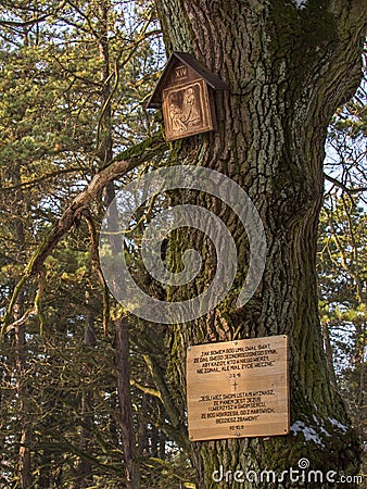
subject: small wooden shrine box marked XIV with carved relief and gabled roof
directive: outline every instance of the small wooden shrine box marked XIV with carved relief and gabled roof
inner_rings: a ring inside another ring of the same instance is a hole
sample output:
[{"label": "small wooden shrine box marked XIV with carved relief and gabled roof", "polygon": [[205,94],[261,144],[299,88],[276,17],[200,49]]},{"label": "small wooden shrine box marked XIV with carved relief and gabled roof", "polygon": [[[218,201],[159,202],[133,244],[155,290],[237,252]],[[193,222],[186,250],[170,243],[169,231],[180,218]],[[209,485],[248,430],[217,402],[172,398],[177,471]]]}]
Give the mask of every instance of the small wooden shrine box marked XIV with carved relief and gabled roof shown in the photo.
[{"label": "small wooden shrine box marked XIV with carved relief and gabled roof", "polygon": [[214,130],[214,92],[228,89],[191,54],[173,52],[147,108],[162,106],[166,140],[173,141]]}]

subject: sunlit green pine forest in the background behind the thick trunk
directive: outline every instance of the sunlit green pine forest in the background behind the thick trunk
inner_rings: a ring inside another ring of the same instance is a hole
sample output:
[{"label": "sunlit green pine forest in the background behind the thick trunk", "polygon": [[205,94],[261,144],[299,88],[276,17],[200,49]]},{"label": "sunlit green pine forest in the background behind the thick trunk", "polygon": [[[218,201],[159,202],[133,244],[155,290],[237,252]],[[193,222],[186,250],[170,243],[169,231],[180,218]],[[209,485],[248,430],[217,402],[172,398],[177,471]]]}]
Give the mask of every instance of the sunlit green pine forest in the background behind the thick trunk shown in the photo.
[{"label": "sunlit green pine forest in the background behind the thick trunk", "polygon": [[[0,5],[1,315],[46,231],[109,163],[101,158],[106,139],[116,155],[157,128],[143,108],[164,62],[154,8],[143,1],[102,4],[109,10],[106,25],[97,0],[7,0]],[[105,33],[107,59],[101,57]],[[341,174],[342,187],[328,189],[319,235],[322,324],[331,336],[339,388],[362,436],[367,213],[355,190],[366,187],[359,151],[366,137],[364,96],[362,88],[330,128],[328,170],[332,178]],[[104,210],[102,198],[90,209],[97,226]],[[141,283],[147,279],[140,263],[136,275]],[[113,330],[122,311],[110,298],[104,333],[103,289],[85,221],[27,283],[23,312],[34,306],[42,284],[37,314],[22,326],[24,343],[20,347],[12,330],[0,344],[0,487],[21,487],[22,430],[30,434],[33,488],[126,487]],[[87,322],[93,346],[86,342]],[[159,388],[166,381],[165,336],[164,327],[130,319],[127,380],[141,486],[193,488],[187,434],[174,401]]]}]

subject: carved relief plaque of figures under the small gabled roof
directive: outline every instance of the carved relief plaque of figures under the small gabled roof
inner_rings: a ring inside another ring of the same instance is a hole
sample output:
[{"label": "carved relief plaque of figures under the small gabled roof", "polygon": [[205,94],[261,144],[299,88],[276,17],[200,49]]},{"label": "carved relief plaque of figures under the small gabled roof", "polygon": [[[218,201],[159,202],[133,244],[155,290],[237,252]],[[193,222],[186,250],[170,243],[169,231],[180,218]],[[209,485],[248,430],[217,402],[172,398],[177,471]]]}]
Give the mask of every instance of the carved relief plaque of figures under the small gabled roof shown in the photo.
[{"label": "carved relief plaque of figures under the small gabled roof", "polygon": [[167,141],[213,130],[214,115],[203,79],[163,90],[163,117]]}]

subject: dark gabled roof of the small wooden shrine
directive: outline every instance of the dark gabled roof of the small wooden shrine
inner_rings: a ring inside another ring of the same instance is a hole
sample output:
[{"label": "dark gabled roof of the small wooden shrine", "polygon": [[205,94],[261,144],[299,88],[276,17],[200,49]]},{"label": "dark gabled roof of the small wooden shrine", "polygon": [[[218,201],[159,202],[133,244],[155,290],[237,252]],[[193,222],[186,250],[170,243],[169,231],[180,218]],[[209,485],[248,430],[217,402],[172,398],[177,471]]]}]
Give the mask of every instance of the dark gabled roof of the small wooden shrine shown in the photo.
[{"label": "dark gabled roof of the small wooden shrine", "polygon": [[191,54],[188,52],[178,52],[174,51],[169,60],[163,70],[163,73],[154,88],[153,93],[148,100],[147,109],[159,109],[162,105],[162,99],[161,99],[161,91],[162,86],[166,79],[167,74],[169,73],[173,64],[175,61],[180,61],[185,65],[189,66],[197,75],[199,75],[201,78],[203,78],[206,84],[212,87],[214,90],[229,90],[228,85],[223,82],[217,75],[210,72],[204,65],[202,65],[198,60],[195,60]]}]

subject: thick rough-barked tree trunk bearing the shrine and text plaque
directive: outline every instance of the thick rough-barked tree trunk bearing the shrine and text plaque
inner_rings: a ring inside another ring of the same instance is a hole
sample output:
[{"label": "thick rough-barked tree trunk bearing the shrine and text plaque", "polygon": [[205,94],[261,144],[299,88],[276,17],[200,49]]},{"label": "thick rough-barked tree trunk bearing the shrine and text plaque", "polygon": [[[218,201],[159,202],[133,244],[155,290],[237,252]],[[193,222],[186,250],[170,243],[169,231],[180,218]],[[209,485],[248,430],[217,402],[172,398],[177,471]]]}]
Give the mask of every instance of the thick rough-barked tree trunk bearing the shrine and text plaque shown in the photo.
[{"label": "thick rough-barked tree trunk bearing the shrine and text plaque", "polygon": [[[291,1],[157,0],[157,7],[168,51],[191,52],[230,86],[229,93],[216,95],[217,131],[175,143],[175,164],[206,166],[237,181],[261,215],[268,250],[262,284],[242,309],[235,302],[244,277],[214,312],[173,328],[168,369],[178,402],[185,402],[189,344],[235,335],[289,335],[290,340],[291,434],[192,443],[198,487],[273,487],[217,484],[212,474],[220,465],[232,473],[280,473],[298,468],[301,457],[309,460],[311,469],[354,474],[358,443],[322,351],[316,239],[327,126],[360,78],[363,2],[308,0],[298,9]],[[186,203],[204,200],[197,196]],[[238,223],[227,227],[236,238],[239,269],[245,271],[245,234]],[[202,237],[186,236],[203,250]],[[182,246],[172,243],[176,264]],[[210,276],[213,261],[205,259],[205,266]],[[193,284],[192,291],[198,287]],[[179,300],[180,293],[173,289],[170,297]]]}]

